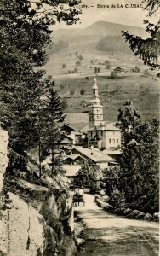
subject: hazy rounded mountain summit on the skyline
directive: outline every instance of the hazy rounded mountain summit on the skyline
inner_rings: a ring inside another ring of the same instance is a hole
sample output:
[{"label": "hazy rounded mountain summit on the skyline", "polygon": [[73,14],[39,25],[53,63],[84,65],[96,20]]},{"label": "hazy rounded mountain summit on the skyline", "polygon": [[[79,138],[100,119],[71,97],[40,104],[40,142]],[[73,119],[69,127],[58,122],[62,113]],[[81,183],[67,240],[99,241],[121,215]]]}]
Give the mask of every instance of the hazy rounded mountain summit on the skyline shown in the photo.
[{"label": "hazy rounded mountain summit on the skyline", "polygon": [[145,30],[141,27],[98,21],[83,29],[60,29],[54,32],[54,41],[57,42],[65,38],[72,48],[96,49],[101,38],[120,37],[123,30],[142,37],[145,36]]}]

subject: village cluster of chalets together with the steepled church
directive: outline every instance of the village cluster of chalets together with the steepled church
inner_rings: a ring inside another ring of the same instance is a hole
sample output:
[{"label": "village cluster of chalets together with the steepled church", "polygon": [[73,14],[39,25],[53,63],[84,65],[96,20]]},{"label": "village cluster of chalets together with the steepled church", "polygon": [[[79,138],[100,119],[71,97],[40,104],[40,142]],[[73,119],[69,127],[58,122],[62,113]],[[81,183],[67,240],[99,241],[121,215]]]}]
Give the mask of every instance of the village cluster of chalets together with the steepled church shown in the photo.
[{"label": "village cluster of chalets together with the steepled church", "polygon": [[[67,120],[75,113],[67,113]],[[83,122],[87,114],[88,124]],[[68,132],[59,145],[63,169],[71,180],[76,178],[81,166],[88,163],[90,166],[99,166],[106,169],[117,166],[117,159],[121,152],[121,131],[113,122],[103,119],[103,106],[100,102],[97,81],[94,78],[92,96],[89,104],[89,113],[76,113],[77,120],[82,125],[77,129],[77,124],[67,126]]]}]

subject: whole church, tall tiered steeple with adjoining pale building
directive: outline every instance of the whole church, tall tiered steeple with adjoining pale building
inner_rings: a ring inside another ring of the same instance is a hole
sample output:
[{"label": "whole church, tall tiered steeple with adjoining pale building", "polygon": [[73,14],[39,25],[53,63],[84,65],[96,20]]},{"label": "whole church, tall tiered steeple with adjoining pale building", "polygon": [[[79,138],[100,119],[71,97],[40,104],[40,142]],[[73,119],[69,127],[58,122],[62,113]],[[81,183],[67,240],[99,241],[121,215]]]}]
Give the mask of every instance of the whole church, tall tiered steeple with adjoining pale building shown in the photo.
[{"label": "whole church, tall tiered steeple with adjoining pale building", "polygon": [[103,120],[103,106],[100,102],[95,78],[89,105],[88,141],[89,147],[94,146],[100,149],[121,148],[121,130],[115,126],[115,123]]}]

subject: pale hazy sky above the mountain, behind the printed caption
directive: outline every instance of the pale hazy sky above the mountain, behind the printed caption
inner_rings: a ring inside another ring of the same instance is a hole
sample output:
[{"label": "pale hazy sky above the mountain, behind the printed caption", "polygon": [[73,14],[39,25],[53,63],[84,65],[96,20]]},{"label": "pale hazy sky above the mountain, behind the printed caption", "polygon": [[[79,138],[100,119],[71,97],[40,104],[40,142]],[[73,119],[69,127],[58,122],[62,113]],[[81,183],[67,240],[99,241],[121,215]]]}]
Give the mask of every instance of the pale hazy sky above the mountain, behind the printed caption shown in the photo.
[{"label": "pale hazy sky above the mountain, behind the printed caption", "polygon": [[[80,15],[80,22],[77,25],[66,26],[63,23],[57,24],[55,28],[79,27],[83,28],[93,24],[98,20],[110,21],[115,23],[126,24],[130,26],[144,26],[143,19],[146,19],[146,12],[142,8],[127,8],[125,4],[140,4],[141,0],[82,0],[82,4],[88,5],[89,8],[83,8],[83,14]],[[97,8],[97,4],[108,4],[109,8]],[[115,4],[116,8],[111,8]],[[123,4],[123,8],[117,8],[117,4]],[[95,7],[91,7],[95,6]],[[154,20],[157,16],[154,15]]]}]

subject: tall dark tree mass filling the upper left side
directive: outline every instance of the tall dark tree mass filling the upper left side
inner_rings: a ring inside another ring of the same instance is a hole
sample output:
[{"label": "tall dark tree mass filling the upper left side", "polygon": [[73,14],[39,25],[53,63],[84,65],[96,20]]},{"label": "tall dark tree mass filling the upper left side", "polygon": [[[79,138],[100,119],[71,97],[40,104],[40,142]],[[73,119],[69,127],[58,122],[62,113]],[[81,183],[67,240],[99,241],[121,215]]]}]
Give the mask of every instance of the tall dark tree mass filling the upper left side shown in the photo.
[{"label": "tall dark tree mass filling the upper left side", "polygon": [[77,22],[79,2],[1,0],[0,121],[9,131],[9,146],[21,158],[39,140],[36,113],[49,88],[41,67],[52,43],[51,26],[56,21]]}]

